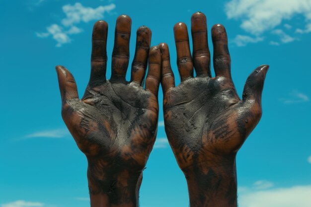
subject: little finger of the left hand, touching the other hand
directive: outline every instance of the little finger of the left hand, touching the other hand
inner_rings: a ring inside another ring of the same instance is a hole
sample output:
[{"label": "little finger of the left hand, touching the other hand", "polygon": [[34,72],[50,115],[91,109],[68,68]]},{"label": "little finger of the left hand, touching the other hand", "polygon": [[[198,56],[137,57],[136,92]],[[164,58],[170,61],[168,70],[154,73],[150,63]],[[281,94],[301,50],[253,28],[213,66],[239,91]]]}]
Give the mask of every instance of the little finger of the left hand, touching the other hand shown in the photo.
[{"label": "little finger of the left hand, touching the other hand", "polygon": [[150,49],[149,69],[146,78],[146,90],[152,92],[156,97],[161,79],[161,52],[157,46]]}]

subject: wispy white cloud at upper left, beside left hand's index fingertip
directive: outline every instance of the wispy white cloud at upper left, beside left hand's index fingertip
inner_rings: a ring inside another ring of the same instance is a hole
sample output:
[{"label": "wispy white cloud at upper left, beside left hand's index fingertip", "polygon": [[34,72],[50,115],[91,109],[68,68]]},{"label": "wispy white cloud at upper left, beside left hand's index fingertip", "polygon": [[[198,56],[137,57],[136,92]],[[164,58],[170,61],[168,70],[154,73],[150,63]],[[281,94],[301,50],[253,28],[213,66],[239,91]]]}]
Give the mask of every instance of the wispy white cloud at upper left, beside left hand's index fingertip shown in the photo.
[{"label": "wispy white cloud at upper left, beside left hand's index fingertip", "polygon": [[66,17],[61,20],[61,24],[52,24],[46,28],[46,32],[36,32],[36,35],[39,38],[51,36],[57,42],[56,47],[61,47],[63,44],[71,43],[71,35],[83,31],[83,29],[76,26],[77,24],[102,19],[104,13],[109,13],[115,7],[116,5],[114,3],[98,6],[96,8],[84,7],[78,2],[74,5],[64,5],[63,12]]}]

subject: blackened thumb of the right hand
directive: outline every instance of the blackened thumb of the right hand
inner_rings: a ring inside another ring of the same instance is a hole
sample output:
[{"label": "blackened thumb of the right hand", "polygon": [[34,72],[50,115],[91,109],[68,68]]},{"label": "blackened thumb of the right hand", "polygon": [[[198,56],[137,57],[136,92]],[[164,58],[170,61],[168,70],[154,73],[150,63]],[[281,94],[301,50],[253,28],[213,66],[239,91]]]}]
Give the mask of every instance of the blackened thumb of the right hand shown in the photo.
[{"label": "blackened thumb of the right hand", "polygon": [[244,102],[247,100],[255,100],[257,103],[261,104],[263,83],[268,69],[268,65],[259,66],[248,76],[242,96]]}]

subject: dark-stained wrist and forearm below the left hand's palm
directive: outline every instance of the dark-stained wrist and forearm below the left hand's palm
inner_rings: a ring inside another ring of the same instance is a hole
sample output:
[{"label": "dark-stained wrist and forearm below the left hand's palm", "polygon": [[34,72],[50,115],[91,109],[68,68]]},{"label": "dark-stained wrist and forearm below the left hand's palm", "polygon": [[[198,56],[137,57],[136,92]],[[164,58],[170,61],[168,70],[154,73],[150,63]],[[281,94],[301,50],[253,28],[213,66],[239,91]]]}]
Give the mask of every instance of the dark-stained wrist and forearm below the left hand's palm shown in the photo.
[{"label": "dark-stained wrist and forearm below the left hand's palm", "polygon": [[138,207],[142,172],[133,176],[115,174],[98,177],[88,170],[91,207]]}]

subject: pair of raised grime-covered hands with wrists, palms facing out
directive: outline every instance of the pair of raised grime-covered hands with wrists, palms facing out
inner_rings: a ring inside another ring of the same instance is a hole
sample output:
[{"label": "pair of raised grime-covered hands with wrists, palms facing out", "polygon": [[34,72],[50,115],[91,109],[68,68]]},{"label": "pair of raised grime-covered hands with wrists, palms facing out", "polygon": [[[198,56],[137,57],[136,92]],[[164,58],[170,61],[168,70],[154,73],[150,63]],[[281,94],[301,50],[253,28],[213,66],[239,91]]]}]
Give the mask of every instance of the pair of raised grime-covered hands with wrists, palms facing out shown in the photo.
[{"label": "pair of raised grime-covered hands with wrists, palms facing out", "polygon": [[197,12],[191,17],[192,55],[187,26],[181,22],[174,26],[178,86],[168,46],[150,48],[151,30],[146,26],[137,30],[127,81],[131,18],[121,15],[108,80],[107,31],[105,21],[95,23],[90,79],[81,99],[73,75],[56,67],[62,117],[88,161],[91,207],[139,206],[143,170],[156,140],[160,83],[165,132],[185,174],[190,207],[237,207],[235,156],[261,118],[269,66],[259,66],[248,76],[240,99],[231,76],[226,29],[221,24],[212,27],[216,74],[212,77],[206,17]]}]

